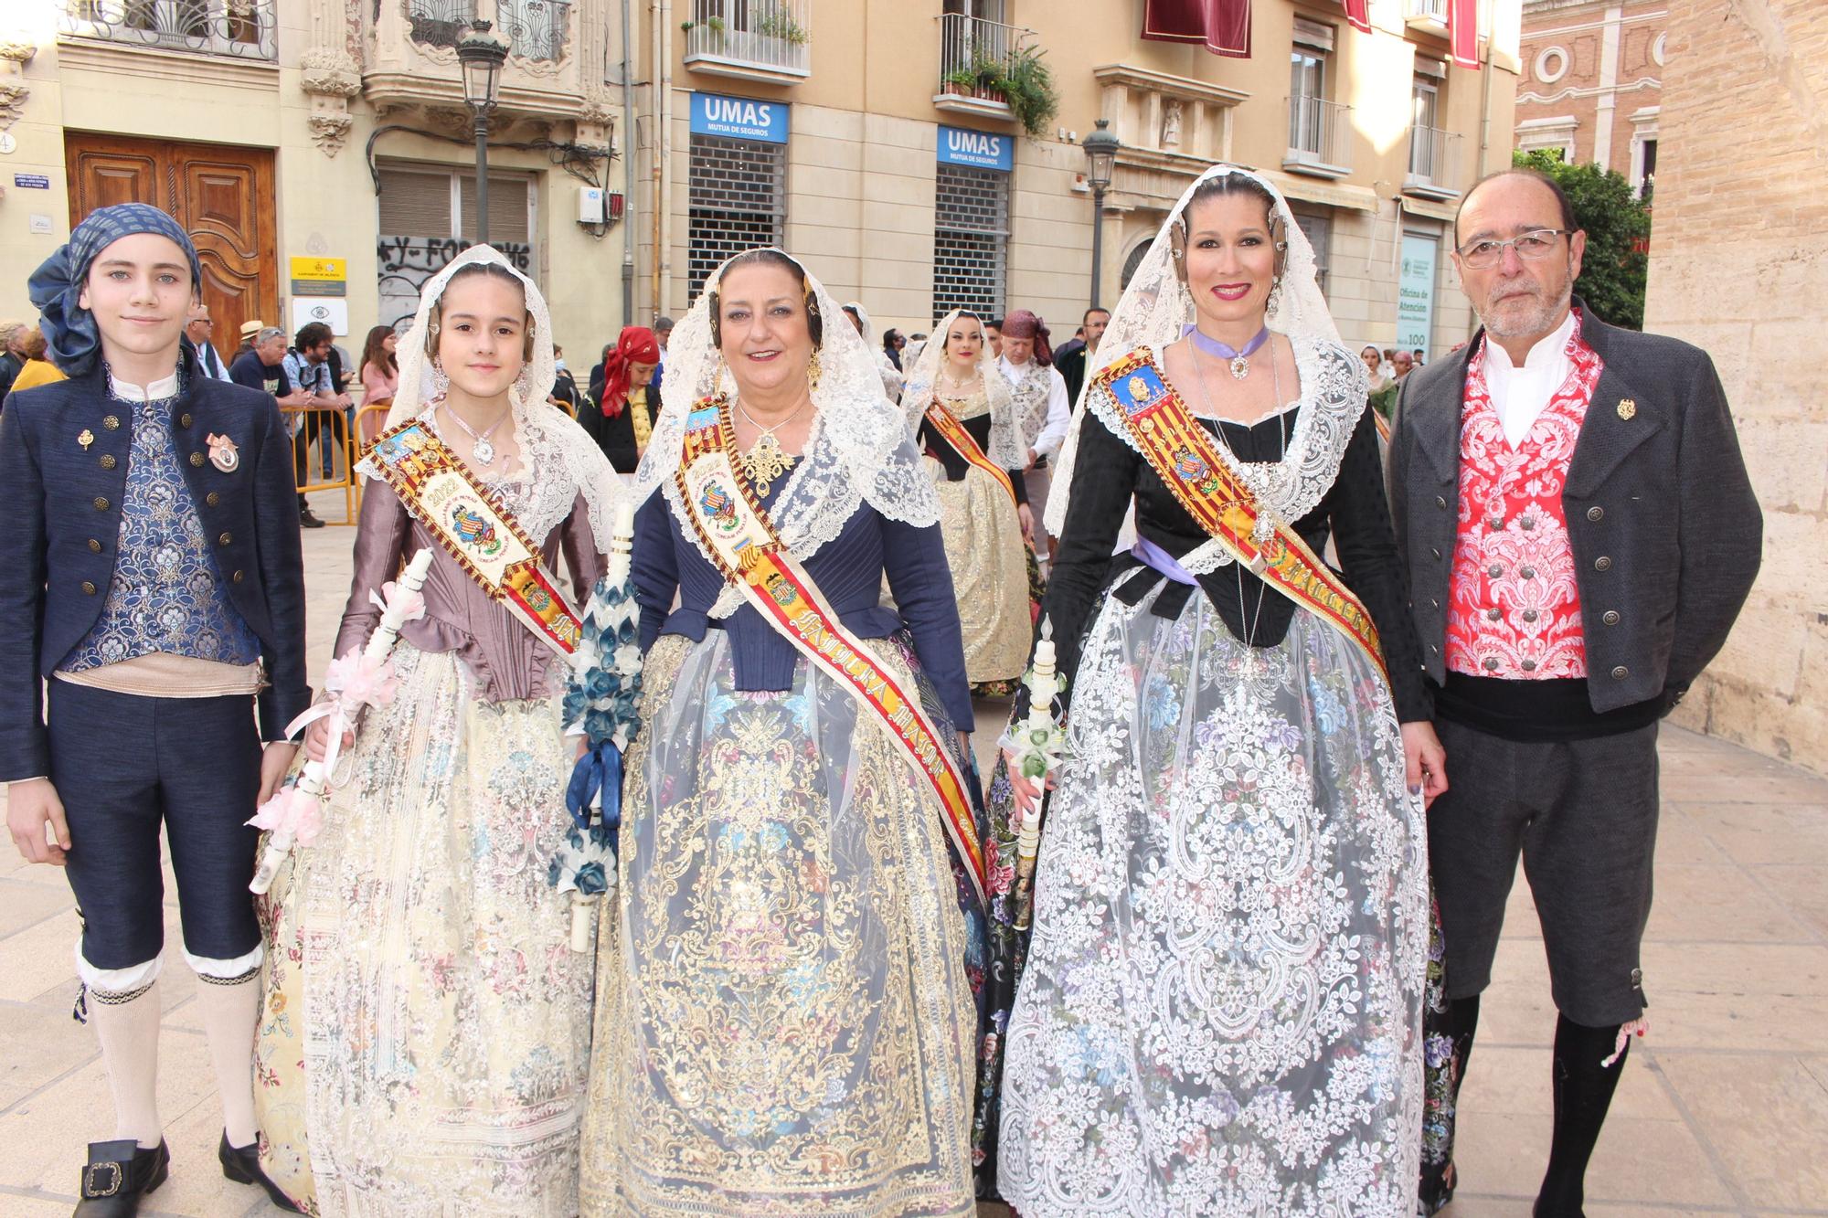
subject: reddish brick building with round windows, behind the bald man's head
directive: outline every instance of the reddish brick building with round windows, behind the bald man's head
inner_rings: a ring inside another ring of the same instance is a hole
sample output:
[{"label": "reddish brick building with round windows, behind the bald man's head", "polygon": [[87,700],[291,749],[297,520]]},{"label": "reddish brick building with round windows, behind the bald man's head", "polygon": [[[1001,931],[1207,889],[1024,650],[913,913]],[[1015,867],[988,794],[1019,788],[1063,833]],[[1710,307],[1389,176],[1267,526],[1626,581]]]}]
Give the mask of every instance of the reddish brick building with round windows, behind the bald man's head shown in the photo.
[{"label": "reddish brick building with round windows, behind the bald man's head", "polygon": [[1525,0],[1517,148],[1656,177],[1669,0]]}]

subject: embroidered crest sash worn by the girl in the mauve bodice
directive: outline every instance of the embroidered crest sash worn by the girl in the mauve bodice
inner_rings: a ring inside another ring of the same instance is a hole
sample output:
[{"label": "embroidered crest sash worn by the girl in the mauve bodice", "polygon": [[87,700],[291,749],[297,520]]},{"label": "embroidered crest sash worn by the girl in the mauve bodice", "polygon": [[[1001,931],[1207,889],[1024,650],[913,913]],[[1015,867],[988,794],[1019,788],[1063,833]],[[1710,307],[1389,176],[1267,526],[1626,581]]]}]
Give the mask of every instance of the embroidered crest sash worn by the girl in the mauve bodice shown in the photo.
[{"label": "embroidered crest sash worn by the girl in the mauve bodice", "polygon": [[559,655],[581,636],[578,611],[539,561],[539,549],[420,419],[384,432],[369,454],[413,519],[439,540],[490,600]]}]

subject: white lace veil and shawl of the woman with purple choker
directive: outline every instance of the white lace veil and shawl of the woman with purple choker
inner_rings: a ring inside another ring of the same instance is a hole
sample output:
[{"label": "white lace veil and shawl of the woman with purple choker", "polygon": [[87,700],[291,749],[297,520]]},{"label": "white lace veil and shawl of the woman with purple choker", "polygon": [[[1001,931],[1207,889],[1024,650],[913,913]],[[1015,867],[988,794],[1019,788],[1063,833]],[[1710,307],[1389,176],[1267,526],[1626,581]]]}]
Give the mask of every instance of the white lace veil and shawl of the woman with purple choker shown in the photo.
[{"label": "white lace veil and shawl of the woman with purple choker", "polygon": [[[1358,415],[1364,411],[1366,395],[1371,388],[1364,364],[1340,342],[1340,331],[1333,324],[1333,315],[1327,311],[1325,296],[1320,294],[1320,283],[1314,276],[1314,247],[1309,245],[1302,227],[1294,221],[1289,201],[1281,198],[1281,192],[1269,179],[1250,170],[1236,165],[1214,165],[1181,194],[1174,210],[1168,212],[1168,219],[1155,232],[1155,241],[1148,247],[1148,254],[1142,256],[1142,263],[1137,267],[1135,276],[1132,276],[1130,287],[1124,289],[1122,298],[1117,302],[1117,311],[1111,315],[1111,324],[1104,329],[1099,351],[1086,368],[1086,386],[1080,390],[1080,401],[1077,402],[1080,417],[1068,430],[1066,444],[1060,448],[1060,461],[1053,475],[1053,492],[1047,496],[1046,525],[1047,532],[1055,536],[1060,536],[1066,529],[1066,505],[1073,488],[1073,466],[1079,459],[1079,430],[1086,426],[1086,408],[1091,406],[1091,413],[1100,415],[1106,426],[1113,421],[1108,413],[1111,406],[1106,402],[1100,410],[1093,401],[1099,397],[1093,391],[1097,375],[1137,347],[1148,347],[1159,355],[1168,344],[1177,342],[1186,326],[1196,320],[1194,298],[1174,269],[1172,232],[1181,223],[1194,192],[1212,177],[1225,174],[1243,174],[1263,187],[1276,201],[1276,214],[1281,218],[1289,249],[1283,256],[1278,302],[1265,316],[1265,326],[1280,335],[1287,335],[1294,347],[1296,368],[1302,373],[1302,415],[1296,422],[1296,439],[1289,448],[1289,455],[1280,463],[1287,466],[1285,472],[1267,474],[1259,465],[1234,465],[1232,468],[1239,472],[1247,486],[1258,492],[1287,521],[1300,519],[1314,510],[1314,505],[1327,494],[1338,474],[1340,455],[1345,452],[1345,443],[1351,439],[1353,428],[1358,426]],[[1327,419],[1320,419],[1320,415],[1327,415]],[[1113,426],[1111,430],[1117,435],[1124,435],[1121,428]],[[1124,441],[1128,443],[1128,437]],[[1334,444],[1336,452],[1333,452]],[[1331,455],[1327,455],[1329,452]],[[1216,545],[1203,545],[1188,558],[1206,554],[1214,549]],[[1206,563],[1205,571],[1223,565],[1210,554],[1197,558],[1197,561]],[[1186,558],[1181,563],[1194,574],[1205,572],[1201,567],[1188,565]]]}]

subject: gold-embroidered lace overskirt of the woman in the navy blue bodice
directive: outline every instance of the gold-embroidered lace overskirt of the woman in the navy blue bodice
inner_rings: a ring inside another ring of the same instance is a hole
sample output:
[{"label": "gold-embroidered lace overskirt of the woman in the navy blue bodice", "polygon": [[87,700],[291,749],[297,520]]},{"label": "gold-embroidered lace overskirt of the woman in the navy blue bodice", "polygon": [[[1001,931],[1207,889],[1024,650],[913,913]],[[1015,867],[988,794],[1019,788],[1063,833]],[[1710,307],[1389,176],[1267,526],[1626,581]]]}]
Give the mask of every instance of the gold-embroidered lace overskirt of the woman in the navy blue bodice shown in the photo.
[{"label": "gold-embroidered lace overskirt of the woman in the navy blue bodice", "polygon": [[930,792],[804,662],[737,691],[724,631],[662,636],[643,682],[583,1213],[971,1214],[976,1006]]}]

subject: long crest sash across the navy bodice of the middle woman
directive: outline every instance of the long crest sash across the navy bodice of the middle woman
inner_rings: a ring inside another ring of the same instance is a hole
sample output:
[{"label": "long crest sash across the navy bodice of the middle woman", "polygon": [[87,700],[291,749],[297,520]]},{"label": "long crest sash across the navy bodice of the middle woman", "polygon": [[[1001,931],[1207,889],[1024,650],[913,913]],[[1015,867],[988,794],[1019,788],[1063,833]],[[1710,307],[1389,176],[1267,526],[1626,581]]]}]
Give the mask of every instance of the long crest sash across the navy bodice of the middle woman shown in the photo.
[{"label": "long crest sash across the navy bodice of the middle woman", "polygon": [[686,417],[686,448],[675,483],[693,530],[724,578],[812,664],[834,677],[874,715],[914,772],[940,796],[941,821],[983,902],[983,843],[971,796],[919,697],[852,635],[806,569],[781,545],[773,521],[735,461],[737,439],[724,399],[700,401]]}]

